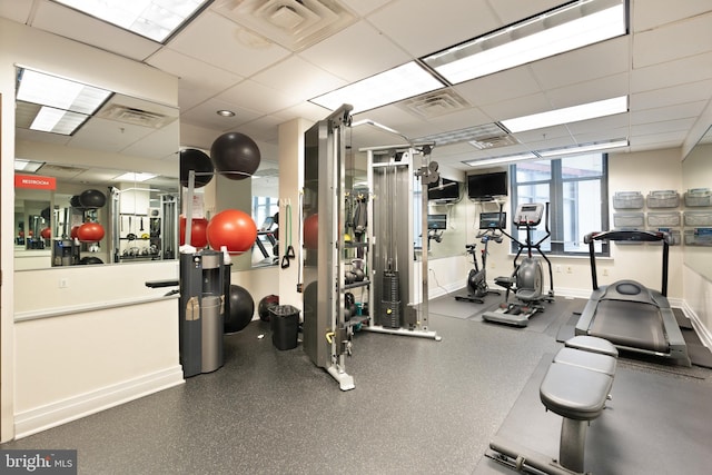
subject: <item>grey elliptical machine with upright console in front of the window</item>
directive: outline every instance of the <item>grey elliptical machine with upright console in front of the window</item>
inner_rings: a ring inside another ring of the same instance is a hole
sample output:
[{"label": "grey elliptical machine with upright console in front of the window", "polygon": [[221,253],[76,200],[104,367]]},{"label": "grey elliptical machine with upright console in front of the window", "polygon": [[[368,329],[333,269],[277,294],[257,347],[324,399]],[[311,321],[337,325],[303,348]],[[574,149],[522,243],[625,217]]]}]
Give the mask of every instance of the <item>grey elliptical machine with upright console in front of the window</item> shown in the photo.
[{"label": "grey elliptical machine with upright console in front of the window", "polygon": [[[545,235],[536,243],[532,240],[532,231],[544,220]],[[516,229],[526,230],[524,243],[510,236],[504,229],[500,229],[506,237],[518,245],[514,257],[514,271],[507,277],[495,278],[495,284],[506,289],[505,299],[500,308],[485,311],[482,318],[486,321],[525,327],[528,320],[538,311],[544,310],[544,301],[554,301],[554,274],[552,263],[542,251],[542,244],[551,237],[548,229],[548,202],[527,202],[518,205],[515,211],[514,226]],[[526,257],[520,261],[522,253],[526,250]],[[548,293],[544,293],[544,268],[542,260],[533,255],[533,250],[546,261],[548,266]],[[514,301],[510,296],[514,296]]]}]

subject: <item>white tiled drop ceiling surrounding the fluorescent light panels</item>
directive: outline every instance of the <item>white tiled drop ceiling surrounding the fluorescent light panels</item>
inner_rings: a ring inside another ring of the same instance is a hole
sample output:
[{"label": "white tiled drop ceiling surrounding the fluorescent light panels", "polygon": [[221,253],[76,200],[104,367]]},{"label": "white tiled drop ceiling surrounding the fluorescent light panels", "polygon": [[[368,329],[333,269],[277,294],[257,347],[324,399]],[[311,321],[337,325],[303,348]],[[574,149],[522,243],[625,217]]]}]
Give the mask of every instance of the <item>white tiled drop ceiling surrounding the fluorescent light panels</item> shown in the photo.
[{"label": "white tiled drop ceiling surrounding the fluorescent light panels", "polygon": [[[179,77],[181,146],[240,131],[276,145],[280,123],[319,120],[315,96],[557,7],[556,0],[215,0],[166,44],[51,0],[0,0],[0,16]],[[627,137],[623,151],[682,146],[712,98],[712,3],[631,0],[630,34],[358,113],[418,139],[629,96],[630,111],[436,146],[441,165]],[[296,23],[308,20],[308,28]],[[236,112],[221,118],[219,109]],[[486,137],[484,139],[487,139]],[[402,142],[369,126],[355,147]],[[486,140],[483,140],[486,142]]]}]

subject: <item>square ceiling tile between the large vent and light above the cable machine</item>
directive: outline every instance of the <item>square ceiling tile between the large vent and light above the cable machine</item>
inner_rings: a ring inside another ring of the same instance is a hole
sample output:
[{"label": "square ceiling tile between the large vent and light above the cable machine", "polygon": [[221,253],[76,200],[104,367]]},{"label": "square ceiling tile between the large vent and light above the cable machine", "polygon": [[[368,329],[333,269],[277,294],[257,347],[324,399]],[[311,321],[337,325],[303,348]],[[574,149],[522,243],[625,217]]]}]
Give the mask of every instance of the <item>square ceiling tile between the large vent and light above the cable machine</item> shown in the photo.
[{"label": "square ceiling tile between the large vent and light above the cable machine", "polygon": [[[377,55],[374,55],[377,51]],[[411,61],[411,57],[360,21],[299,53],[300,57],[348,81],[357,81]]]}]

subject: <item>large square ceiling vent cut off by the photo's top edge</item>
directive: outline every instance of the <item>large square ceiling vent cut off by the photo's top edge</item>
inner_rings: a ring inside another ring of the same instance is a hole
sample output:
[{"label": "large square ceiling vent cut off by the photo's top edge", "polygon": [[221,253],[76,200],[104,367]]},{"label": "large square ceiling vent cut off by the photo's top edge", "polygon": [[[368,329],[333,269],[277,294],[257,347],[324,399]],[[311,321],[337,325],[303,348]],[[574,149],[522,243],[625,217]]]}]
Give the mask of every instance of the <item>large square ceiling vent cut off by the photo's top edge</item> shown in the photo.
[{"label": "large square ceiling vent cut off by the photo's top edge", "polygon": [[224,0],[215,10],[291,51],[316,44],[356,21],[336,0]]}]

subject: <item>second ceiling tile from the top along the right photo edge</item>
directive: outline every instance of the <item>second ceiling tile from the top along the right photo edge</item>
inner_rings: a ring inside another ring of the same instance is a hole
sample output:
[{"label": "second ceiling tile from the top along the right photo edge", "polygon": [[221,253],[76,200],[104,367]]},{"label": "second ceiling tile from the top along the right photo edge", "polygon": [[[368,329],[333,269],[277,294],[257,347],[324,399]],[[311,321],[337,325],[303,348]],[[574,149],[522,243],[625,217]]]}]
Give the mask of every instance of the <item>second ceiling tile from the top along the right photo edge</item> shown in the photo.
[{"label": "second ceiling tile from the top along the right photo edge", "polygon": [[635,34],[633,67],[643,68],[712,49],[712,11]]}]

